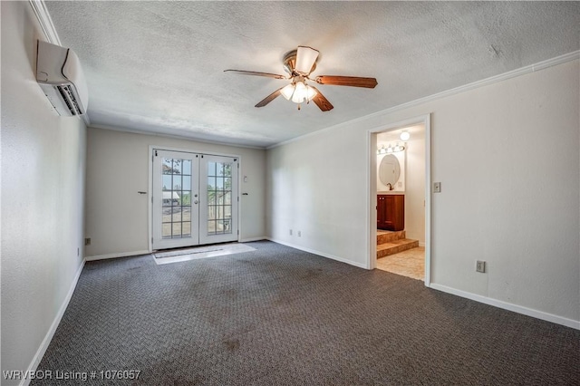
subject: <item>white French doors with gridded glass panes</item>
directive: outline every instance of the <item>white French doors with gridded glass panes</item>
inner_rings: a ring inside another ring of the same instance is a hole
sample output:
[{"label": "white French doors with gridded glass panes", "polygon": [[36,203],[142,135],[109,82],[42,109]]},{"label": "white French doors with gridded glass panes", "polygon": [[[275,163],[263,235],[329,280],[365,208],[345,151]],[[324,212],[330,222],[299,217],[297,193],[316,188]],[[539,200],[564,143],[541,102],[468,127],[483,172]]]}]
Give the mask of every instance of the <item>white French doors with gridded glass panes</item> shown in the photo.
[{"label": "white French doors with gridded glass panes", "polygon": [[153,150],[153,249],[237,241],[237,158]]}]

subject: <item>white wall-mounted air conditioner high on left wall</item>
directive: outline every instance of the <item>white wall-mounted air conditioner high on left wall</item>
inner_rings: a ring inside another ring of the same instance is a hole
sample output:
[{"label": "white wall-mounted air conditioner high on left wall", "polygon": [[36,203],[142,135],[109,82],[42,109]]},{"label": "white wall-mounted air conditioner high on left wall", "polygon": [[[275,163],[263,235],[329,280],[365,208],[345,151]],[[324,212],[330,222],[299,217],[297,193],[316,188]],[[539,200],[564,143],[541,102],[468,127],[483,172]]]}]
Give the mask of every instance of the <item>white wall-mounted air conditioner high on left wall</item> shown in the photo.
[{"label": "white wall-mounted air conditioner high on left wall", "polygon": [[87,111],[87,82],[73,50],[38,41],[36,82],[60,115],[70,117]]}]

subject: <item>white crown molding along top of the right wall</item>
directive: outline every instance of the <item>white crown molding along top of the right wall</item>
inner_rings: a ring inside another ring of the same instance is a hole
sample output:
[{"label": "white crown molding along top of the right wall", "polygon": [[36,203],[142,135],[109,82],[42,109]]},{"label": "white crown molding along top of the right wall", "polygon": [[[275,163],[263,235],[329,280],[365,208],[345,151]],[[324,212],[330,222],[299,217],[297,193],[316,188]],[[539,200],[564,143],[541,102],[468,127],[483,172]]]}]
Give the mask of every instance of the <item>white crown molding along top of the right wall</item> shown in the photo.
[{"label": "white crown molding along top of the right wall", "polygon": [[338,128],[341,128],[344,126],[353,125],[357,122],[362,122],[362,121],[366,121],[366,120],[369,120],[372,118],[391,114],[395,111],[409,109],[411,107],[418,106],[420,104],[427,103],[430,101],[436,101],[436,100],[439,100],[441,98],[446,98],[446,97],[449,97],[451,95],[458,94],[460,92],[468,92],[470,90],[475,90],[475,89],[478,89],[479,87],[488,86],[488,85],[493,84],[493,83],[507,81],[508,79],[516,78],[517,76],[525,75],[525,74],[530,73],[530,72],[544,70],[548,67],[552,67],[552,66],[567,63],[567,62],[572,62],[572,61],[577,60],[577,59],[580,59],[580,51],[574,51],[572,53],[565,53],[563,55],[556,56],[555,58],[547,59],[546,61],[538,62],[535,64],[530,64],[530,65],[527,65],[525,67],[517,68],[516,70],[512,70],[509,72],[500,73],[499,75],[491,76],[489,78],[482,79],[481,81],[464,84],[463,86],[459,86],[459,87],[456,87],[454,89],[449,89],[449,90],[444,91],[444,92],[438,92],[436,94],[432,94],[432,95],[429,95],[429,96],[426,96],[426,97],[423,97],[423,98],[420,98],[420,99],[417,99],[414,101],[408,101],[406,103],[399,104],[399,105],[391,107],[389,109],[385,109],[385,110],[377,111],[377,112],[372,112],[371,114],[364,115],[364,116],[359,117],[359,118],[355,118],[351,121],[344,121],[344,122],[338,123],[336,125],[324,128],[322,130],[316,130],[313,132],[309,132],[308,134],[301,135],[300,137],[295,137],[291,140],[285,140],[285,141],[282,141],[279,143],[275,143],[274,145],[268,146],[266,149],[267,150],[274,149],[274,148],[277,148],[279,146],[284,146],[284,145],[287,145],[289,143],[295,142],[296,140],[304,140],[304,139],[311,137],[313,135],[321,134],[324,131],[335,130],[335,129],[338,129]]}]

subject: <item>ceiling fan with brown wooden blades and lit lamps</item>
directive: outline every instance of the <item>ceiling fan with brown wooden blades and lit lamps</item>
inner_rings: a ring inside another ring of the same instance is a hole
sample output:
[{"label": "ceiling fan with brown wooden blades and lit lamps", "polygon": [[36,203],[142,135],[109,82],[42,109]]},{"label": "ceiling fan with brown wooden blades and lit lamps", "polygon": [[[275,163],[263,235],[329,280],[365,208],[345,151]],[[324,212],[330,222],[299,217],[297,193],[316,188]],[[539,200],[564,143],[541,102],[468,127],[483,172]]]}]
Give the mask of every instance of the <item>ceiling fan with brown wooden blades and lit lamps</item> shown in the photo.
[{"label": "ceiling fan with brown wooden blades and lit lamps", "polygon": [[242,75],[266,76],[268,78],[291,81],[289,84],[280,87],[275,92],[266,96],[262,101],[259,101],[256,104],[256,107],[266,106],[266,104],[274,101],[275,98],[281,94],[286,100],[298,103],[298,110],[300,110],[300,103],[303,103],[304,101],[306,103],[314,101],[320,110],[330,111],[333,110],[331,102],[328,101],[316,87],[308,84],[308,82],[336,86],[365,87],[367,89],[373,89],[378,84],[375,78],[361,78],[356,76],[320,75],[313,79],[310,77],[310,74],[316,69],[318,55],[318,50],[314,50],[314,48],[304,45],[299,45],[298,49],[286,53],[283,59],[283,66],[285,72],[288,72],[287,76],[269,72],[243,70],[225,70],[224,72],[236,72]]}]

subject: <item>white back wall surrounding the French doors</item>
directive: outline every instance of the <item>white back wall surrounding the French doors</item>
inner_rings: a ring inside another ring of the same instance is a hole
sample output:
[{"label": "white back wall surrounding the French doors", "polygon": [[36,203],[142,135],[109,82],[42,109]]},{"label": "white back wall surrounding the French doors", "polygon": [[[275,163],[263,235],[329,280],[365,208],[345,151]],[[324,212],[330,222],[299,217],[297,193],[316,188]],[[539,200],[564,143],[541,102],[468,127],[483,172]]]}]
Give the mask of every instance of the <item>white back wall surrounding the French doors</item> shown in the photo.
[{"label": "white back wall surrounding the French doors", "polygon": [[87,258],[148,251],[150,145],[240,157],[240,236],[266,236],[266,151],[89,128],[87,139]]}]

